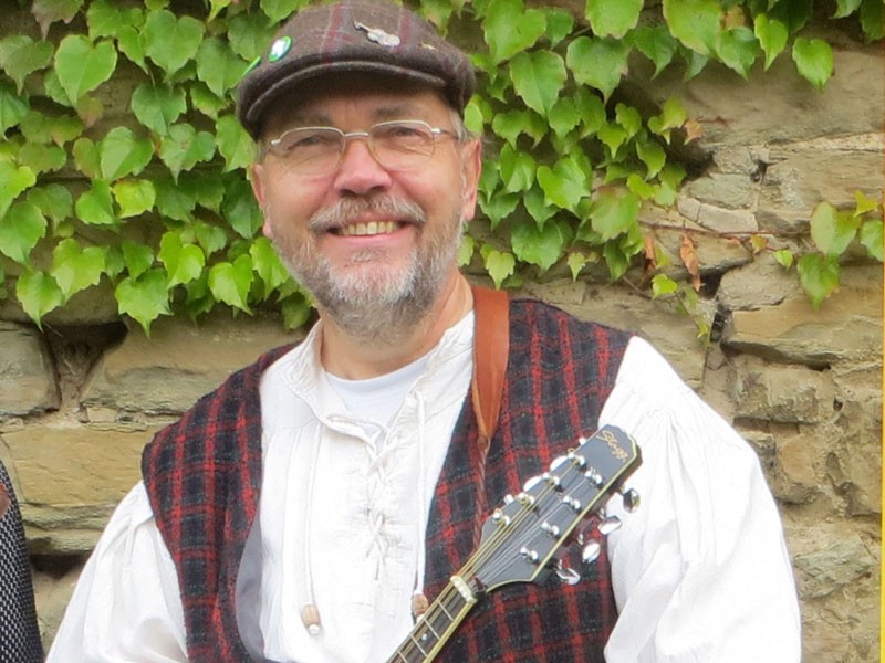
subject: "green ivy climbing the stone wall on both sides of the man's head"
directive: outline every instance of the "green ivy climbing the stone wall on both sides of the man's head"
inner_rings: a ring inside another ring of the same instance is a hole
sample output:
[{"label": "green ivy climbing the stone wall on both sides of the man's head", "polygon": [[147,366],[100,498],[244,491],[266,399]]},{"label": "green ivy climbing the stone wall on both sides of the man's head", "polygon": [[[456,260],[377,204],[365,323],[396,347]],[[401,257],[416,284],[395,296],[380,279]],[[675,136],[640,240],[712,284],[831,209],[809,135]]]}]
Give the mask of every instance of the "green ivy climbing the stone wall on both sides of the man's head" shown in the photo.
[{"label": "green ivy climbing the stone wall on both sides of the man's head", "polygon": [[[41,325],[77,293],[113,288],[118,312],[146,332],[159,316],[198,318],[218,305],[282,311],[303,325],[311,302],[261,236],[244,168],[253,145],[233,94],[277,25],[304,0],[34,0],[7,4],[0,34],[0,298]],[[667,275],[644,204],[670,208],[686,170],[674,140],[698,137],[677,99],[644,117],[615,102],[632,56],[655,75],[697,75],[717,61],[748,77],[791,57],[818,88],[831,46],[803,34],[816,12],[856,20],[883,39],[882,0],[586,0],[580,15],[523,0],[423,0],[419,9],[471,48],[480,90],[468,126],[489,137],[482,223],[460,260],[499,287],[605,265],[617,280],[652,264],[652,296],[685,303],[698,288]],[[822,9],[824,8],[824,9]],[[882,202],[810,211],[810,246],[769,249],[796,269],[814,305],[839,286],[858,242],[882,261]]]}]

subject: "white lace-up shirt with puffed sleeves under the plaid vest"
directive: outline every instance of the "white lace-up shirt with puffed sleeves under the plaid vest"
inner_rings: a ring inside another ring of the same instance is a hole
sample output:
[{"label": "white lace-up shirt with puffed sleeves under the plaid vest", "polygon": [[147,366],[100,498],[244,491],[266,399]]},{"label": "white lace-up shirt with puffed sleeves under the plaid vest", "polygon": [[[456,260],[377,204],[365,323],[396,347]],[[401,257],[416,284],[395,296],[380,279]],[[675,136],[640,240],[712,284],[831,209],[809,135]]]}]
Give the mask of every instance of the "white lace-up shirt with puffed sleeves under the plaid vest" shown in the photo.
[{"label": "white lace-up shirt with puffed sleeves under the plaid vest", "polygon": [[[360,414],[322,370],[316,330],[266,372],[261,545],[248,546],[263,564],[241,573],[253,580],[241,596],[261,596],[264,656],[383,662],[408,633],[419,544],[470,381],[472,327],[468,316],[449,329],[419,361],[425,370],[404,369],[388,398]],[[372,417],[375,409],[383,414]],[[606,423],[643,453],[628,482],[642,506],[625,514],[618,498],[608,505],[624,524],[607,539],[618,620],[606,661],[798,662],[790,559],[752,449],[639,338],[603,409]],[[311,596],[319,636],[300,618]],[[185,652],[175,566],[139,483],[84,568],[48,661],[180,662]]]}]

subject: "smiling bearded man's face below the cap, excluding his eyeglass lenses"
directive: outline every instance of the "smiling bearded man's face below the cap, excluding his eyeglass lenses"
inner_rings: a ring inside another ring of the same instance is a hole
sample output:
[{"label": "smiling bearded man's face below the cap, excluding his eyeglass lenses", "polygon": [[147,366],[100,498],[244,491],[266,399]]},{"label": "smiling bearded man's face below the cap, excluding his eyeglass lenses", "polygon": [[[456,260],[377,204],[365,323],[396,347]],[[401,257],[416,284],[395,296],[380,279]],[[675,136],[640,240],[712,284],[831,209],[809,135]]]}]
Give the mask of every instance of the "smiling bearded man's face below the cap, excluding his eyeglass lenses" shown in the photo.
[{"label": "smiling bearded man's face below the cap, excluding his eyeglass lenses", "polygon": [[[296,127],[364,131],[391,120],[455,129],[451,109],[431,90],[339,75],[300,91],[293,107],[278,107],[263,138]],[[339,324],[361,332],[373,325],[372,313],[381,314],[376,325],[396,323],[392,315],[410,324],[434,304],[457,272],[479,169],[476,140],[442,135],[426,162],[391,170],[356,138],[330,173],[293,172],[270,152],[253,166],[252,187],[264,211],[264,234],[292,274]]]}]

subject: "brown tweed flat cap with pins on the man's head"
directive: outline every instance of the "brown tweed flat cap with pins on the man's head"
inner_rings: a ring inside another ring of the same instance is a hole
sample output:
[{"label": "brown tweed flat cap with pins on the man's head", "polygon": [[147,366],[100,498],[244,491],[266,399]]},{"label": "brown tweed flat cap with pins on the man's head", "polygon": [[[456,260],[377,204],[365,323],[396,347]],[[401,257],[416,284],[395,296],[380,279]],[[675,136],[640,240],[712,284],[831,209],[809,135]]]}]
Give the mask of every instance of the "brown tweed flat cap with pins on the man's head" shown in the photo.
[{"label": "brown tweed flat cap with pins on the man's head", "polygon": [[258,138],[273,104],[296,98],[310,78],[343,72],[438,87],[458,112],[476,85],[468,57],[427,21],[391,1],[344,0],[303,9],[282,25],[240,82],[237,116]]}]

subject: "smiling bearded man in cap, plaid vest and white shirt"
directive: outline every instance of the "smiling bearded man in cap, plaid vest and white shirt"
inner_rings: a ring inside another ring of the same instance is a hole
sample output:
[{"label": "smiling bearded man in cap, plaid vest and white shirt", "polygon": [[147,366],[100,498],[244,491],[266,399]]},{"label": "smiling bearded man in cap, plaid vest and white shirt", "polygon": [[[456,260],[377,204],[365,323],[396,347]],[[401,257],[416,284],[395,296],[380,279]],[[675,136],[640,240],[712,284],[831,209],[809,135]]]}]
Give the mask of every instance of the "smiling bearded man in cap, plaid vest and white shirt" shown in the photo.
[{"label": "smiling bearded man in cap, plaid vest and white shirt", "polygon": [[366,0],[298,13],[247,74],[264,233],[320,322],[148,446],[50,661],[424,660],[392,656],[487,513],[606,423],[642,448],[643,506],[610,505],[623,528],[581,582],[490,592],[439,660],[799,660],[758,460],[647,344],[511,303],[485,439],[483,295],[456,262],[480,175],[472,90],[460,51]]}]

